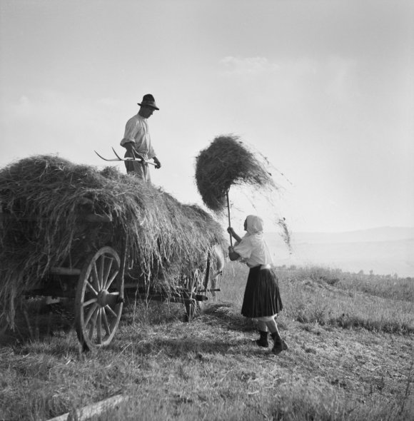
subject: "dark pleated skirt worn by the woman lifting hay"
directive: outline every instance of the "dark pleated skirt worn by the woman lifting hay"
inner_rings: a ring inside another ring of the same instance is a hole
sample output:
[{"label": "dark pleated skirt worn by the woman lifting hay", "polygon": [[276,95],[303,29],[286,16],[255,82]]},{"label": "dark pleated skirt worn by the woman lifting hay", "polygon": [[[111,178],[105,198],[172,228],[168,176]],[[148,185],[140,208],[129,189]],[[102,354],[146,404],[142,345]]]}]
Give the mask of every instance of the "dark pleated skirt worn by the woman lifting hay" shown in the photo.
[{"label": "dark pleated skirt worn by the woman lifting hay", "polygon": [[246,318],[275,315],[283,308],[278,278],[271,269],[251,268],[248,273],[241,314]]}]

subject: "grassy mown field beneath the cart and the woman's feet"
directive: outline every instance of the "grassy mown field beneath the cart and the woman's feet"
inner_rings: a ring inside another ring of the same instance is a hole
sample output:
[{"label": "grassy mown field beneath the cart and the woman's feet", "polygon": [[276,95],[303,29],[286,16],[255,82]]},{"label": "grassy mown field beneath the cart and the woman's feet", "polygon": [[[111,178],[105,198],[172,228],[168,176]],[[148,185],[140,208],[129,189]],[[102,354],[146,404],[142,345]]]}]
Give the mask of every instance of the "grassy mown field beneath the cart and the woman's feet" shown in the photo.
[{"label": "grassy mown field beneath the cart and the woman's feet", "polygon": [[183,305],[130,303],[104,350],[82,353],[69,322],[31,304],[0,345],[0,419],[48,420],[113,395],[99,420],[412,420],[414,280],[280,271],[289,350],[252,344],[247,269],[183,323]]}]

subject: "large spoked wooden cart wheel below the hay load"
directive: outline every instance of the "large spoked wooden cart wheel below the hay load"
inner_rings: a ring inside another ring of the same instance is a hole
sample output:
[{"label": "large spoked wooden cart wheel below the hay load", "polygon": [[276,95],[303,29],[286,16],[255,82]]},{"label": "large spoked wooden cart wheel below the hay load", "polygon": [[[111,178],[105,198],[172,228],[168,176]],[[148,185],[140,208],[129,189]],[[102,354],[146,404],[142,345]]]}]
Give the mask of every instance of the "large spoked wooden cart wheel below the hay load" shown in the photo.
[{"label": "large spoked wooden cart wheel below the hay load", "polygon": [[103,247],[86,261],[76,290],[76,333],[86,349],[111,342],[123,307],[123,280],[118,253]]}]

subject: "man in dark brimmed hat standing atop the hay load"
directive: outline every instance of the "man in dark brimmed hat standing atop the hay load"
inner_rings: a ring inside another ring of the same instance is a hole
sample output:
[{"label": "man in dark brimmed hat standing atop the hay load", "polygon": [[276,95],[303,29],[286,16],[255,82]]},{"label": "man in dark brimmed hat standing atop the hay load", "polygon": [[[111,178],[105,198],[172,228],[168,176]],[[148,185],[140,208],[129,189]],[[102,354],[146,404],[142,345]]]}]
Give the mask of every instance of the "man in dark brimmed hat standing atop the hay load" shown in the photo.
[{"label": "man in dark brimmed hat standing atop the hay load", "polygon": [[125,158],[138,158],[137,161],[124,161],[126,172],[134,173],[143,181],[151,182],[148,164],[145,161],[152,159],[156,168],[161,168],[161,162],[151,145],[147,119],[159,108],[151,93],[144,95],[138,106],[140,106],[138,114],[126,122],[121,146],[126,148]]}]

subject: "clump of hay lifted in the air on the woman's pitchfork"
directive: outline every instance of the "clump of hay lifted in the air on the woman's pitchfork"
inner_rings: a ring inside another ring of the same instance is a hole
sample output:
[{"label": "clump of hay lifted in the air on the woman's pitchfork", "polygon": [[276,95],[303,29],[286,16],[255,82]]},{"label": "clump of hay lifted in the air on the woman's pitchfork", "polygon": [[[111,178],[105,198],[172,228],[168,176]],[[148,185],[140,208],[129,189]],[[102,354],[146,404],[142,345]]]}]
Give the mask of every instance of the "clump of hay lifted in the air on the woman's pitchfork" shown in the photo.
[{"label": "clump of hay lifted in the air on the woman's pitchfork", "polygon": [[277,190],[271,174],[238,136],[218,136],[196,158],[196,183],[203,202],[220,213],[233,185],[250,184]]}]

